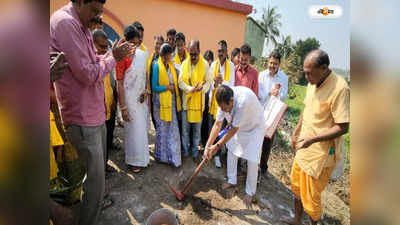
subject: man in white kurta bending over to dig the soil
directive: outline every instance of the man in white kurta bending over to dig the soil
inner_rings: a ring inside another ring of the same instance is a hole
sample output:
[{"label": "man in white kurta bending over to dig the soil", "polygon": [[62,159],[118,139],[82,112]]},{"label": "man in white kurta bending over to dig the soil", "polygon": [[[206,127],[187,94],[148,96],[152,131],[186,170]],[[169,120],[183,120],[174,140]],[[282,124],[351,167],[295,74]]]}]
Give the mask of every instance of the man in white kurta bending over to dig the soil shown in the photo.
[{"label": "man in white kurta bending over to dig the soil", "polygon": [[[244,203],[252,208],[253,196],[257,189],[258,164],[266,131],[263,108],[252,90],[247,87],[221,85],[216,93],[218,112],[208,138],[204,158],[212,159],[221,146],[228,148],[228,182],[222,185],[226,190],[237,184],[238,158],[247,160],[246,196]],[[227,133],[214,144],[221,130],[224,118],[228,121]]]}]

